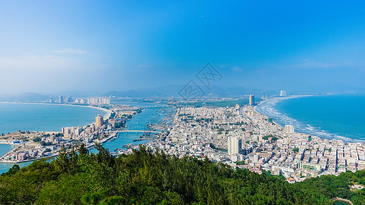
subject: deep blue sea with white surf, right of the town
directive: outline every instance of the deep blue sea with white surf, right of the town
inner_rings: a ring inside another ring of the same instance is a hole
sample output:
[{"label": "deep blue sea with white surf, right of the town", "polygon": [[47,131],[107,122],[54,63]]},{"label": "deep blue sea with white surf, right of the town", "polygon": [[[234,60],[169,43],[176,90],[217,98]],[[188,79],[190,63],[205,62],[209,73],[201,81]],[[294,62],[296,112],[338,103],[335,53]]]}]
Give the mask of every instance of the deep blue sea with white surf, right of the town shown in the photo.
[{"label": "deep blue sea with white surf, right of the town", "polygon": [[345,142],[365,141],[365,95],[289,96],[262,102],[256,111],[297,133]]}]

